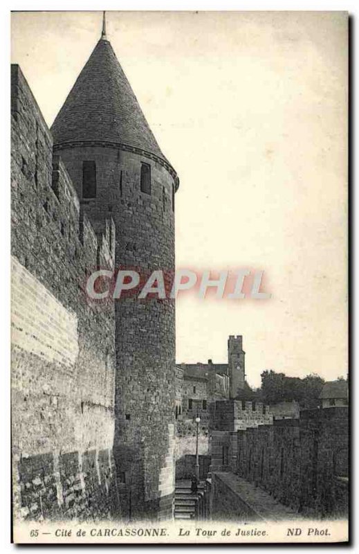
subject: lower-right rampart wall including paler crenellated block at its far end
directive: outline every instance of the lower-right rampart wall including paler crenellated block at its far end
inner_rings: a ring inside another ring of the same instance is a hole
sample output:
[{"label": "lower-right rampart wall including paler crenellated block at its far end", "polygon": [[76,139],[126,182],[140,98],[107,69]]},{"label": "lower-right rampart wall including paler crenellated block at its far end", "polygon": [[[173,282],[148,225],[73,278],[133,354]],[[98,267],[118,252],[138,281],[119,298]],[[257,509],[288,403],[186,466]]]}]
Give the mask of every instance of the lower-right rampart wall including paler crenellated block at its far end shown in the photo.
[{"label": "lower-right rampart wall including paler crenellated block at its far end", "polygon": [[238,474],[297,512],[347,513],[347,408],[273,422],[268,406],[223,400],[210,415],[211,472]]}]

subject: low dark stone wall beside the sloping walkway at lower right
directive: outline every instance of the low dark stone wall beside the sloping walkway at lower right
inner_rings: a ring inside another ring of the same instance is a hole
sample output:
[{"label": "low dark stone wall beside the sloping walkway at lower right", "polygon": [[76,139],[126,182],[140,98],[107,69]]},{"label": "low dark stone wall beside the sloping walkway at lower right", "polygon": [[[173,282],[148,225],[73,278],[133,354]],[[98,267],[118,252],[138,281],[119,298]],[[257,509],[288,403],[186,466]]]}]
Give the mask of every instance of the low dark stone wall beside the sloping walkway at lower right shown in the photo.
[{"label": "low dark stone wall beside the sloping walkway at lower right", "polygon": [[237,432],[237,473],[286,506],[315,516],[348,509],[348,409]]}]

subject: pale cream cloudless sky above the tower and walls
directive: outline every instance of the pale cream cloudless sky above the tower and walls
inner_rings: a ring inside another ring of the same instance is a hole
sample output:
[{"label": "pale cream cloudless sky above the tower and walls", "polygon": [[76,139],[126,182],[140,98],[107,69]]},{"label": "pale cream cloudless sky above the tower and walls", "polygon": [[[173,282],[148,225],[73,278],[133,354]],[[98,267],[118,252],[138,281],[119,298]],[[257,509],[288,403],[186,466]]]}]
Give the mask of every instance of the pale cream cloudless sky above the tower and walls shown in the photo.
[{"label": "pale cream cloudless sky above the tower and walls", "polygon": [[[12,13],[12,62],[50,126],[101,12]],[[264,271],[266,300],[176,303],[178,362],[347,375],[344,12],[107,12],[107,37],[180,178],[176,265]]]}]

